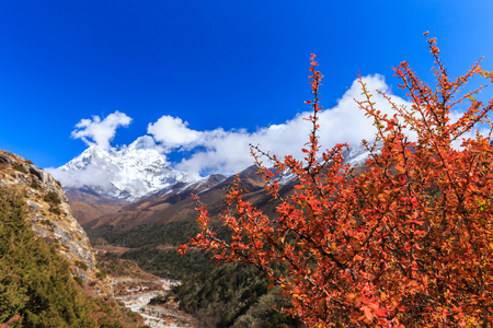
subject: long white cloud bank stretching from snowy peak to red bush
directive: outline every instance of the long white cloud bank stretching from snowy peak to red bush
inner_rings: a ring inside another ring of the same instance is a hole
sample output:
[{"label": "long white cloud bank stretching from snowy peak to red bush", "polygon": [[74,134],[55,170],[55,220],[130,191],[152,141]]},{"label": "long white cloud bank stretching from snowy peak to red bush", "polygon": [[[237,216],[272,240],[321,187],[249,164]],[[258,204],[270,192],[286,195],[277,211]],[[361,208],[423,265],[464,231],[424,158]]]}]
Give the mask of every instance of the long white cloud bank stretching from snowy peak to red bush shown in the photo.
[{"label": "long white cloud bank stretching from snowy peak to red bush", "polygon": [[[374,94],[374,102],[377,103],[378,109],[390,114],[391,107],[388,102],[375,92],[380,90],[390,94],[383,77],[366,77],[364,82]],[[336,106],[320,113],[319,137],[322,148],[332,148],[335,143],[343,142],[357,145],[362,139],[374,139],[376,133],[374,122],[365,117],[362,109],[358,109],[354,98],[363,99],[362,87],[357,81],[339,99]],[[392,96],[392,99],[398,104],[406,104],[398,96]],[[307,109],[309,109],[308,105]],[[311,124],[303,117],[310,114],[311,112],[301,113],[284,124],[261,128],[252,133],[245,130],[225,131],[221,128],[197,131],[190,129],[188,124],[180,118],[163,116],[157,122],[149,125],[148,133],[161,142],[165,152],[199,147],[191,157],[175,165],[177,169],[192,175],[233,174],[253,164],[249,143],[260,144],[263,151],[276,154],[278,157],[291,154],[301,159],[301,149],[308,142],[311,129]]]}]

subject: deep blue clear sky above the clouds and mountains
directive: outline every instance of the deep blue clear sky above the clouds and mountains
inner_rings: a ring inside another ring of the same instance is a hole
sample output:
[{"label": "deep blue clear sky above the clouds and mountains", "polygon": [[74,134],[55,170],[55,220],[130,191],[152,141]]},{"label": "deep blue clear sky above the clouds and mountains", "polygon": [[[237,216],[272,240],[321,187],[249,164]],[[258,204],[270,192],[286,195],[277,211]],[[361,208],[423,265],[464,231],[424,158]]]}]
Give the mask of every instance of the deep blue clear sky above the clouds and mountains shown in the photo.
[{"label": "deep blue clear sky above the clouds and mountains", "polygon": [[[199,138],[241,133],[261,142],[259,131],[309,110],[302,102],[310,98],[311,52],[325,75],[325,108],[349,96],[357,72],[379,74],[398,96],[392,66],[408,60],[433,79],[425,31],[437,37],[452,75],[481,56],[493,70],[492,12],[493,1],[456,0],[3,0],[0,149],[59,166],[88,147],[71,137],[76,125],[118,112],[131,122],[107,138],[113,148],[149,133],[150,124],[158,129],[162,117],[195,138],[171,147],[161,136],[163,153],[180,166],[209,147]],[[220,144],[193,159],[195,169]]]}]

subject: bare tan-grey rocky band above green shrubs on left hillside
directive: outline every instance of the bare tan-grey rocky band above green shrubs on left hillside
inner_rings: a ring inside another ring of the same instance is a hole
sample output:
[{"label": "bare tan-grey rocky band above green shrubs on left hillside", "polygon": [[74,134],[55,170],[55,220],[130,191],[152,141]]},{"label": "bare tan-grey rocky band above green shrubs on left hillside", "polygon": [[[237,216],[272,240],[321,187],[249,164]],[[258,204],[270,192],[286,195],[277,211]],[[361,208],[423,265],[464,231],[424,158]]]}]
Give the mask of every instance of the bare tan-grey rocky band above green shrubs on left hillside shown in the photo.
[{"label": "bare tan-grey rocky band above green shrubs on left hillside", "polygon": [[31,227],[69,260],[71,272],[84,283],[99,284],[95,256],[89,238],[72,215],[60,184],[49,174],[11,152],[0,150],[0,188],[24,198]]}]

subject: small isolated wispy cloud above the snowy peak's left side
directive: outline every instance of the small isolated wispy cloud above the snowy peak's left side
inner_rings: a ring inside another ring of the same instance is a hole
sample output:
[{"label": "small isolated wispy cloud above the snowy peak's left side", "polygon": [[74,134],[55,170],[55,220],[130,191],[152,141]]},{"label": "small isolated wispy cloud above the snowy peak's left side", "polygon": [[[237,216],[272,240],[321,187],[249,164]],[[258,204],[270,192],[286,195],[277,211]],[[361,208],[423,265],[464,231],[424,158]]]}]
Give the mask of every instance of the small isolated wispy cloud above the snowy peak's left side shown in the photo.
[{"label": "small isolated wispy cloud above the snowy peak's left side", "polygon": [[110,141],[115,137],[116,129],[128,126],[130,121],[130,117],[118,110],[104,119],[99,116],[93,116],[92,119],[84,118],[76,125],[71,137],[81,139],[88,145],[95,144],[104,150],[110,150]]}]

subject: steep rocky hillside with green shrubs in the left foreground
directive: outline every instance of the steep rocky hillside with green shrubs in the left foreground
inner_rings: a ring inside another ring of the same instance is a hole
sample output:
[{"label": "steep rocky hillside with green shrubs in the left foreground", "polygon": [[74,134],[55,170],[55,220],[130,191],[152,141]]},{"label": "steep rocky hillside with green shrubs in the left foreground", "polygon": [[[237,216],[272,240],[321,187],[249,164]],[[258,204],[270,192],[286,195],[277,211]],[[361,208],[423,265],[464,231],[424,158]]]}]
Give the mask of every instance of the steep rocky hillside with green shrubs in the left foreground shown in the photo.
[{"label": "steep rocky hillside with green shrubs in the left foreground", "polygon": [[101,273],[59,184],[0,151],[0,326],[144,327]]}]

